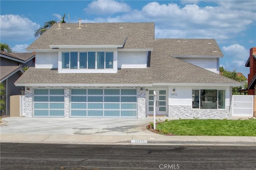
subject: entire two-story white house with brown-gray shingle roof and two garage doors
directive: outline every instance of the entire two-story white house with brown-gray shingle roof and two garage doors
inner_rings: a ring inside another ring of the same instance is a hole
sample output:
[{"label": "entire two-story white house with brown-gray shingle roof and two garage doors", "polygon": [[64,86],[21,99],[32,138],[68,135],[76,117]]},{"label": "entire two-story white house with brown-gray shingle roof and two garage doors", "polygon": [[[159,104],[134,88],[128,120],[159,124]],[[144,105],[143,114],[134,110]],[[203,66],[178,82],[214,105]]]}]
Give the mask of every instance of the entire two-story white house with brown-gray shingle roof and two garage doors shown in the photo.
[{"label": "entire two-story white house with brown-gray shingle roof and two garage doors", "polygon": [[[56,23],[28,46],[26,117],[231,116],[214,39],[155,39],[154,23]],[[192,64],[191,64],[192,63]],[[197,66],[196,66],[197,65]]]}]

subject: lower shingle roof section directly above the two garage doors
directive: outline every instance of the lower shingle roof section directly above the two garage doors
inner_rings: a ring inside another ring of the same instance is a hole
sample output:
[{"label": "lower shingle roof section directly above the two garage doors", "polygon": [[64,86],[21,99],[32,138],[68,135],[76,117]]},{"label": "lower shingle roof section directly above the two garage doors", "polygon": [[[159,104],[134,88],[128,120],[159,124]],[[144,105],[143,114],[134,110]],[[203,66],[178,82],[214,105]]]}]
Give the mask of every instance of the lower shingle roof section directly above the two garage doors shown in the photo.
[{"label": "lower shingle roof section directly above the two garage doors", "polygon": [[118,73],[58,73],[30,67],[15,84],[152,84],[151,68],[123,68]]}]

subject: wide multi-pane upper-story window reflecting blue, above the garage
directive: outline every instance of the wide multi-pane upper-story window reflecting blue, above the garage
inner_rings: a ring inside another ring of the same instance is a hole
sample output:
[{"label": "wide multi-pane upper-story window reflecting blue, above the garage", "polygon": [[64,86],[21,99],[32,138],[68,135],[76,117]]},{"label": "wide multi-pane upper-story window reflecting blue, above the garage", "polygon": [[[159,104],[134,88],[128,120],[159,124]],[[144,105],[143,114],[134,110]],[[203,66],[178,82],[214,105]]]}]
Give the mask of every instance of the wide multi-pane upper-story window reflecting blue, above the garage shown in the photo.
[{"label": "wide multi-pane upper-story window reflecting blue, above the garage", "polygon": [[64,69],[113,69],[114,52],[62,52]]}]

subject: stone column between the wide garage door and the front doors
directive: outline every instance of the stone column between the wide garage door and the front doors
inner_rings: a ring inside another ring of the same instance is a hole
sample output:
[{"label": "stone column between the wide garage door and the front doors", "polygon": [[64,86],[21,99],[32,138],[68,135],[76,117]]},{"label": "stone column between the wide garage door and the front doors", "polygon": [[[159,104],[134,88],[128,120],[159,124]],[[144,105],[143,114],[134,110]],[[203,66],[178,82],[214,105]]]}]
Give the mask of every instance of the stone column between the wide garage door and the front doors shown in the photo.
[{"label": "stone column between the wide garage door and the front doors", "polygon": [[137,98],[138,98],[138,119],[142,119],[146,117],[146,89],[142,88],[142,92],[140,92],[140,88],[137,88]]}]

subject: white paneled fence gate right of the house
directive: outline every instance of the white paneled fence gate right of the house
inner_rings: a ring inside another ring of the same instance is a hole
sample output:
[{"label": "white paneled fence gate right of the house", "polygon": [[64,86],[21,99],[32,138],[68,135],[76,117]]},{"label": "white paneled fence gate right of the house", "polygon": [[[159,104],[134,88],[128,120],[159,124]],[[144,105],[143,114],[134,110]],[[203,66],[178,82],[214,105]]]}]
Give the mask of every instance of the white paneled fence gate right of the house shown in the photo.
[{"label": "white paneled fence gate right of the house", "polygon": [[232,116],[253,116],[253,95],[232,96]]}]

